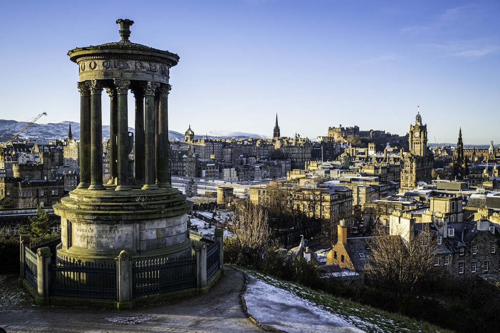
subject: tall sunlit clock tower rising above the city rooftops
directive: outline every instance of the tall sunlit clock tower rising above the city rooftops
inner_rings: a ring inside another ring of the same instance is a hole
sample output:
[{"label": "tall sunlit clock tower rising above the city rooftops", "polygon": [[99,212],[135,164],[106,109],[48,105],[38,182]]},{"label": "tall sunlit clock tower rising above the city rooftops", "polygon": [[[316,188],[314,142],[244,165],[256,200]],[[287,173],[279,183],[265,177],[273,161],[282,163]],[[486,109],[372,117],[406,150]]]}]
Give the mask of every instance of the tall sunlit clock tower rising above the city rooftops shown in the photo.
[{"label": "tall sunlit clock tower rising above the city rooftops", "polygon": [[401,156],[401,193],[431,182],[433,158],[427,148],[427,125],[422,124],[420,113],[415,117],[415,124],[409,125],[408,144],[409,152]]}]

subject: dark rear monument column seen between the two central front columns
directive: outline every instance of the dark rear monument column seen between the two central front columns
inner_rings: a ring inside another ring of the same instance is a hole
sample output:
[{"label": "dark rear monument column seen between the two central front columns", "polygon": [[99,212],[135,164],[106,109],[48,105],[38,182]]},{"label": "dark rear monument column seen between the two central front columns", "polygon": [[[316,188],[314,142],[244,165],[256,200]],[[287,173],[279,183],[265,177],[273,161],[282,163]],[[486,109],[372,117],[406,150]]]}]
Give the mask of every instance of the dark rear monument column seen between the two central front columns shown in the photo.
[{"label": "dark rear monument column seen between the two central front columns", "polygon": [[138,87],[132,90],[135,96],[135,180],[144,183],[144,91]]}]

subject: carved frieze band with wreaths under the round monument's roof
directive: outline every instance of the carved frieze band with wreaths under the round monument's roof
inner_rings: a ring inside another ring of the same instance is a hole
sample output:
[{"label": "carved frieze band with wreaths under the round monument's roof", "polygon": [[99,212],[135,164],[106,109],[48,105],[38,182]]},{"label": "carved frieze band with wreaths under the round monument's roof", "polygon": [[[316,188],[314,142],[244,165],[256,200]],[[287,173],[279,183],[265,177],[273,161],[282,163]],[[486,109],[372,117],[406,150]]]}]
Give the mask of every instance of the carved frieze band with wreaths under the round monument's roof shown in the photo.
[{"label": "carved frieze band with wreaths under the round monument's roof", "polygon": [[169,75],[169,67],[165,64],[152,61],[136,61],[136,60],[88,60],[80,62],[80,72],[85,70],[107,70],[107,69],[128,69],[140,70],[147,72],[156,72],[161,75]]}]

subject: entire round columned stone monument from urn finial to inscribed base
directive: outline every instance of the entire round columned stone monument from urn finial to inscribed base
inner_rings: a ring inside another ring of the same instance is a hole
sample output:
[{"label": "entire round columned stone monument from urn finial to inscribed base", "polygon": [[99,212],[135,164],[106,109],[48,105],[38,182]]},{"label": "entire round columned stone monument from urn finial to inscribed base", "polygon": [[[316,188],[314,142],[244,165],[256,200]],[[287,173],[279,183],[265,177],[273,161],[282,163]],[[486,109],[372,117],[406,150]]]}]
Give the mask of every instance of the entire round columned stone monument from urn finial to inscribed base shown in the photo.
[{"label": "entire round columned stone monument from urn finial to inscribed base", "polygon": [[[65,260],[113,261],[191,255],[186,214],[191,204],[171,187],[168,174],[169,70],[177,54],[132,43],[129,19],[118,19],[121,40],[68,52],[78,65],[80,183],[54,205],[61,217]],[[102,179],[102,90],[110,100],[109,173]],[[128,131],[127,96],[135,138]],[[134,140],[135,139],[135,140]],[[135,145],[135,160],[128,154]]]}]

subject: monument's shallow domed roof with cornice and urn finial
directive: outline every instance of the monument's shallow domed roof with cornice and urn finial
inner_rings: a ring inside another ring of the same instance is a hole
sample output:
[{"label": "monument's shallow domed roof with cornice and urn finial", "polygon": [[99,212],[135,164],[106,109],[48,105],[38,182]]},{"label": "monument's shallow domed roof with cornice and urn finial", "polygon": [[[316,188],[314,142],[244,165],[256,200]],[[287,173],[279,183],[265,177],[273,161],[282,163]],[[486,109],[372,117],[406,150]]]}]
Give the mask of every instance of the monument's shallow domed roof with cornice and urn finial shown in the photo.
[{"label": "monument's shallow domed roof with cornice and urn finial", "polygon": [[103,43],[99,45],[90,45],[86,47],[77,47],[68,51],[68,55],[73,62],[77,62],[78,58],[82,56],[88,56],[89,54],[112,54],[112,53],[142,53],[144,55],[156,56],[160,58],[167,58],[171,63],[171,66],[177,64],[179,56],[175,53],[159,50],[146,45],[133,43],[128,37],[130,36],[130,26],[133,24],[131,19],[119,18],[116,20],[117,24],[120,24],[119,34],[121,40],[113,41],[108,43]]}]

